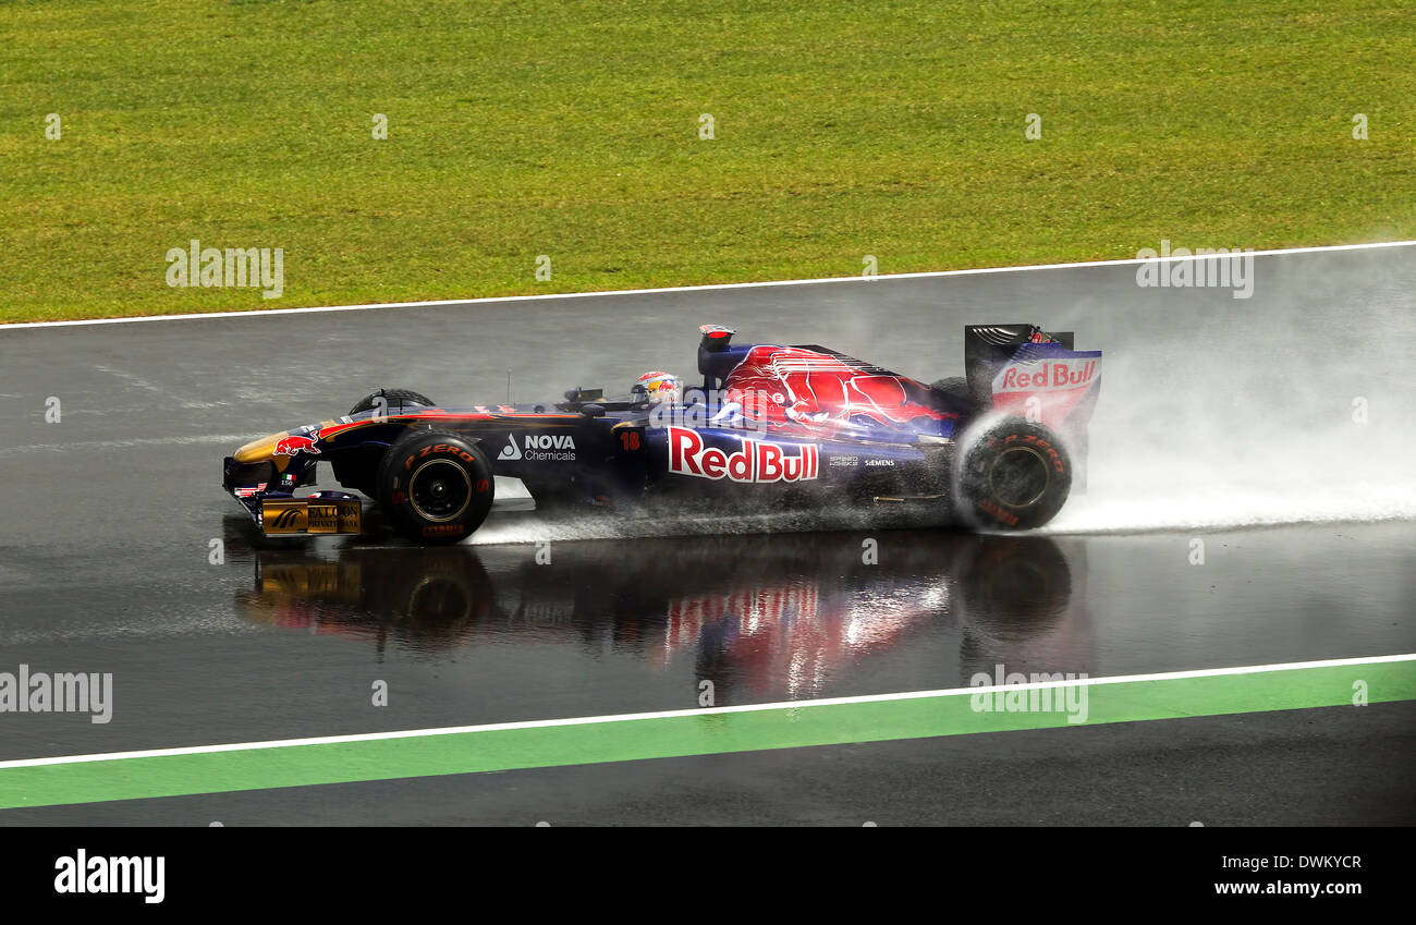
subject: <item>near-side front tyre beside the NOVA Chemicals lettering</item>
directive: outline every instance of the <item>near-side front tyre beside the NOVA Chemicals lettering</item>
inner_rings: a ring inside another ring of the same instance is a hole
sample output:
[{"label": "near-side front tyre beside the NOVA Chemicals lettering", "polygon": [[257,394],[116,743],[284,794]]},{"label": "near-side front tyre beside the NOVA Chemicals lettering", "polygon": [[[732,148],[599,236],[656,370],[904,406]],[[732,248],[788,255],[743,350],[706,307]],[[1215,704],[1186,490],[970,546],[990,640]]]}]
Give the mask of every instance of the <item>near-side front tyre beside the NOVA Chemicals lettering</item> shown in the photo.
[{"label": "near-side front tyre beside the NOVA Chemicals lettering", "polygon": [[412,431],[378,467],[378,500],[394,528],[428,545],[457,543],[487,518],[496,494],[481,445],[440,431]]}]

